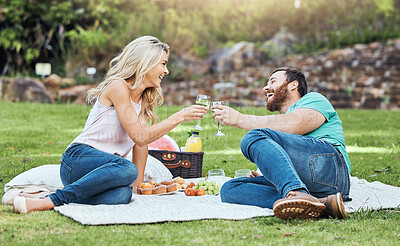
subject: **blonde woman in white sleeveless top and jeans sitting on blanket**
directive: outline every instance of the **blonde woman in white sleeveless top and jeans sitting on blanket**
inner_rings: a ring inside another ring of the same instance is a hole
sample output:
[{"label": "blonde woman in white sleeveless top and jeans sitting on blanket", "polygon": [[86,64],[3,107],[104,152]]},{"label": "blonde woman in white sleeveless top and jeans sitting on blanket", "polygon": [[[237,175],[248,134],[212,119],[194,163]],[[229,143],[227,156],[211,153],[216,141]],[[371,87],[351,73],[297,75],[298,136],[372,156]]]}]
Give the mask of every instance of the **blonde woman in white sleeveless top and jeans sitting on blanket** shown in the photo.
[{"label": "blonde woman in white sleeveless top and jeans sitting on blanket", "polygon": [[[207,108],[193,105],[155,124],[153,109],[163,102],[160,84],[169,47],[157,38],[133,40],[110,62],[104,82],[88,92],[96,101],[82,133],[61,159],[64,189],[44,199],[16,196],[14,210],[27,213],[63,204],[126,204],[143,181],[147,144],[181,122],[198,120]],[[146,122],[151,121],[147,126]],[[126,157],[132,151],[132,162]]]}]

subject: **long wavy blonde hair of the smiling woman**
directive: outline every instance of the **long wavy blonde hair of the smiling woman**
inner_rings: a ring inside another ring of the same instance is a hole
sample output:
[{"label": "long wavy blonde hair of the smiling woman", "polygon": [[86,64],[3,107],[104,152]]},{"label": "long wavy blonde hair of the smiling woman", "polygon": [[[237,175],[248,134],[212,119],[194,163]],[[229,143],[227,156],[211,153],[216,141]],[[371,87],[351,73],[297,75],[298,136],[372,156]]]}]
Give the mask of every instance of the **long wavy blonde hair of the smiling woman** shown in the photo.
[{"label": "long wavy blonde hair of the smiling woman", "polygon": [[[118,56],[111,60],[105,80],[88,91],[87,102],[95,101],[101,90],[113,80],[124,80],[129,90],[139,87],[146,73],[160,62],[163,51],[169,55],[169,46],[152,36],[143,36],[130,42]],[[130,79],[134,81],[133,85],[126,82]],[[146,88],[141,96],[142,109],[139,118],[144,121],[150,118],[151,123],[154,124],[157,116],[153,109],[163,102],[161,88]]]}]

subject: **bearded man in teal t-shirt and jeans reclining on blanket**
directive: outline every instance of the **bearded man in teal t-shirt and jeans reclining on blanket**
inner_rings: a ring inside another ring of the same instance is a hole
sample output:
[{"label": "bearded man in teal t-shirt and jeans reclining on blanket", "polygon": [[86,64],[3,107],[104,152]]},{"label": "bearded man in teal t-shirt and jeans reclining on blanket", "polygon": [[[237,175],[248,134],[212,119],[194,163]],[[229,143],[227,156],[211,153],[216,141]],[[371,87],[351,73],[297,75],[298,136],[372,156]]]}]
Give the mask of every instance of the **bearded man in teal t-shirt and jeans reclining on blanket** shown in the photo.
[{"label": "bearded man in teal t-shirt and jeans reclining on blanket", "polygon": [[263,90],[267,109],[280,114],[244,115],[213,106],[222,125],[250,131],[241,149],[262,173],[226,182],[222,201],[273,208],[281,219],[345,218],[350,160],[337,112],[321,94],[307,94],[305,77],[294,68],[276,69]]}]

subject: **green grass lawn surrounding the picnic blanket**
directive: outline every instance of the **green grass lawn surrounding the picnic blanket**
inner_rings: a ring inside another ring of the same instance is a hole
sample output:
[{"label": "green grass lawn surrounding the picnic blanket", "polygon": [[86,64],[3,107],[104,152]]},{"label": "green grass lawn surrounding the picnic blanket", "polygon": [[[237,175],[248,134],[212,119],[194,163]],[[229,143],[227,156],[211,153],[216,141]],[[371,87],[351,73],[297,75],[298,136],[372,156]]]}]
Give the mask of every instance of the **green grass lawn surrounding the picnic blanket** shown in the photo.
[{"label": "green grass lawn surrounding the picnic blanket", "polygon": [[[90,107],[44,105],[0,101],[0,195],[4,185],[28,169],[59,163],[66,146],[83,129]],[[165,118],[181,107],[161,107]],[[263,108],[241,108],[251,114],[265,114]],[[400,112],[340,110],[352,175],[368,181],[399,185]],[[186,122],[169,135],[180,146],[195,122]],[[240,153],[240,139],[246,131],[223,127],[226,137],[213,137],[215,121],[208,114],[201,132],[205,152],[203,175],[223,168],[228,176],[236,169],[255,165]],[[386,170],[385,172],[383,172]],[[387,171],[389,170],[389,171]],[[398,245],[400,213],[359,211],[348,219],[282,221],[275,217],[240,221],[202,220],[146,225],[83,226],[59,213],[13,213],[0,205],[0,245]],[[261,238],[254,238],[259,235]],[[286,236],[285,236],[286,235]]]}]

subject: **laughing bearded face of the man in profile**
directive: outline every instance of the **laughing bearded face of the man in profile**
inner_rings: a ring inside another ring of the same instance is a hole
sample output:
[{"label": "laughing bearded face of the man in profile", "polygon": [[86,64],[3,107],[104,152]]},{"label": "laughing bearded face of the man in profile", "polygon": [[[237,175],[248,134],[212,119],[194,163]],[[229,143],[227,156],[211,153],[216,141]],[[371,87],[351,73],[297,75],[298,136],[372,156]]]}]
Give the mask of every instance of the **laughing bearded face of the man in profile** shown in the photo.
[{"label": "laughing bearded face of the man in profile", "polygon": [[285,73],[285,71],[278,71],[272,74],[267,85],[263,88],[269,111],[281,111],[284,103],[289,98]]}]

